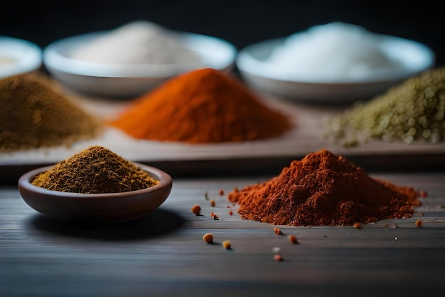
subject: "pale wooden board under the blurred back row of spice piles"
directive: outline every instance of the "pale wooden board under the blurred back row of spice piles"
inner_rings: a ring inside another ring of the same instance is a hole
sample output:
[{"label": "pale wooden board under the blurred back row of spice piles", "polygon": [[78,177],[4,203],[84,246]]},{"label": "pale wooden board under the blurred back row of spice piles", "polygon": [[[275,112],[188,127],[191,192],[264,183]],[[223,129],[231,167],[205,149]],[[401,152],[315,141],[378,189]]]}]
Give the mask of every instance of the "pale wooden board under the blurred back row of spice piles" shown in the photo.
[{"label": "pale wooden board under the blurred back row of spice piles", "polygon": [[[112,118],[131,104],[131,100],[92,98],[70,90],[65,93],[90,113],[103,118]],[[102,145],[128,160],[161,167],[172,175],[279,172],[291,160],[323,148],[367,170],[436,170],[445,165],[445,142],[407,145],[371,141],[357,147],[344,147],[325,137],[326,118],[341,113],[348,106],[304,105],[272,97],[264,97],[264,100],[272,108],[289,114],[294,129],[269,140],[188,145],[136,140],[109,127],[97,139],[76,142],[70,148],[0,154],[0,179],[16,179],[26,170],[55,164],[90,145]]]}]

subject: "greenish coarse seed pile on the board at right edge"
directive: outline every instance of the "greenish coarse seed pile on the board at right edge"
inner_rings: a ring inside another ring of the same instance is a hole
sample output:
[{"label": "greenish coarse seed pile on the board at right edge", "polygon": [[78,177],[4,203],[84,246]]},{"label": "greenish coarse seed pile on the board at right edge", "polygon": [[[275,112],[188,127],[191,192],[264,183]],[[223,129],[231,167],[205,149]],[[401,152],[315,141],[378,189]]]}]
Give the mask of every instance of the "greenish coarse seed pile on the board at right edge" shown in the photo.
[{"label": "greenish coarse seed pile on the board at right edge", "polygon": [[433,68],[328,119],[326,135],[345,147],[370,139],[437,143],[445,139],[444,114],[445,68]]}]

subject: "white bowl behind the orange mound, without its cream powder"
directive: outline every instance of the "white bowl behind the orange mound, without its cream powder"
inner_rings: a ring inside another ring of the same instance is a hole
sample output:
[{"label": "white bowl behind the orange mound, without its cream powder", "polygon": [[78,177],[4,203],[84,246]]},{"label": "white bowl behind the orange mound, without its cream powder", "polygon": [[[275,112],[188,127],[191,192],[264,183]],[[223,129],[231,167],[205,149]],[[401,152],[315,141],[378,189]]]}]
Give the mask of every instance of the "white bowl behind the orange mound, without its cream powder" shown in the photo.
[{"label": "white bowl behind the orange mound, without its cream powder", "polygon": [[70,53],[107,31],[72,36],[50,43],[43,51],[43,64],[64,85],[81,93],[107,97],[132,97],[154,88],[175,75],[195,68],[230,71],[236,48],[220,38],[195,33],[178,33],[186,48],[198,53],[203,65],[195,64],[104,64],[70,58]]}]

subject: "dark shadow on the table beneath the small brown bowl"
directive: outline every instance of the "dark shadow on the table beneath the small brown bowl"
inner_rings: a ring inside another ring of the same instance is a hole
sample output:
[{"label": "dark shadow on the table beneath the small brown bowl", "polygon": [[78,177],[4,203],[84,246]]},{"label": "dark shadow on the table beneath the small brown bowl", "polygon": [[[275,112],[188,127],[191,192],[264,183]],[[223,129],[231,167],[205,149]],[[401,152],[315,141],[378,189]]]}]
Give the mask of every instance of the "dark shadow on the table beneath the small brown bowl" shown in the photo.
[{"label": "dark shadow on the table beneath the small brown bowl", "polygon": [[184,221],[173,212],[155,209],[146,217],[111,224],[75,224],[60,222],[41,214],[29,219],[29,223],[41,231],[52,234],[110,241],[146,239],[179,229]]}]

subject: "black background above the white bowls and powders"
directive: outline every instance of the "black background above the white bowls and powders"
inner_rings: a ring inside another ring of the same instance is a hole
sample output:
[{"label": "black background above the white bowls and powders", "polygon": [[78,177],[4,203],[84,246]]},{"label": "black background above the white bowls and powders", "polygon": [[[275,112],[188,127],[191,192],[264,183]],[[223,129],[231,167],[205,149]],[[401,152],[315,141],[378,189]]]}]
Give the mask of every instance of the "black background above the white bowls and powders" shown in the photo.
[{"label": "black background above the white bowls and powders", "polygon": [[60,38],[109,30],[136,19],[224,38],[241,49],[316,24],[343,21],[375,33],[409,38],[445,65],[445,1],[144,1],[0,0],[0,35],[44,48]]}]

